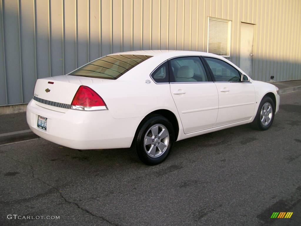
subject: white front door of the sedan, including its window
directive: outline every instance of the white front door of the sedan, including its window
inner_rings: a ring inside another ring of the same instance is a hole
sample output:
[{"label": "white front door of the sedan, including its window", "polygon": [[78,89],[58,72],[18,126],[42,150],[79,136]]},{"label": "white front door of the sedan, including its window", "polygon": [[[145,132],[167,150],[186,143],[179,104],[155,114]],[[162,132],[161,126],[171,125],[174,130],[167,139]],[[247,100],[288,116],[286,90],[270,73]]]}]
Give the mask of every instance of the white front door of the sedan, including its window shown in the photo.
[{"label": "white front door of the sedan, including its window", "polygon": [[241,82],[241,73],[214,57],[203,57],[219,95],[219,111],[215,127],[249,120],[255,108],[255,89],[251,82]]}]

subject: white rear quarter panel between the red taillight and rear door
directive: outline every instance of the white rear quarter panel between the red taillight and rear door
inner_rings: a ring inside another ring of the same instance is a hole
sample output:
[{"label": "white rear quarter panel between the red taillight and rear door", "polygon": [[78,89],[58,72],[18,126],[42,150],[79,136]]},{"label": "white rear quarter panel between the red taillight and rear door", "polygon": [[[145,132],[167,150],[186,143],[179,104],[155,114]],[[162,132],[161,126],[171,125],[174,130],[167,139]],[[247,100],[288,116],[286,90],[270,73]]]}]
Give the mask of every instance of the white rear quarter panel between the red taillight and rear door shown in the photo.
[{"label": "white rear quarter panel between the red taillight and rear door", "polygon": [[113,118],[145,117],[159,109],[177,112],[169,84],[156,84],[150,77],[151,72],[164,62],[164,58],[156,61],[153,58],[138,64],[112,83],[90,85],[104,100]]}]

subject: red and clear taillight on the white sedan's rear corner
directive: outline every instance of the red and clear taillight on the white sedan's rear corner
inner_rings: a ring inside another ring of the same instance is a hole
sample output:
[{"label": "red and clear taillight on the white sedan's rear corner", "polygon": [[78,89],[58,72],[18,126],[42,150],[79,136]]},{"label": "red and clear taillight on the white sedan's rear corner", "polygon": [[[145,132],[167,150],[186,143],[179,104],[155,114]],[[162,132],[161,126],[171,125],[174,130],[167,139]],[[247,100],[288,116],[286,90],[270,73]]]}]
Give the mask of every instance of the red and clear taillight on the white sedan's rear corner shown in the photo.
[{"label": "red and clear taillight on the white sedan's rear corner", "polygon": [[107,106],[93,89],[88,86],[79,86],[71,102],[71,109],[95,111],[107,110]]}]

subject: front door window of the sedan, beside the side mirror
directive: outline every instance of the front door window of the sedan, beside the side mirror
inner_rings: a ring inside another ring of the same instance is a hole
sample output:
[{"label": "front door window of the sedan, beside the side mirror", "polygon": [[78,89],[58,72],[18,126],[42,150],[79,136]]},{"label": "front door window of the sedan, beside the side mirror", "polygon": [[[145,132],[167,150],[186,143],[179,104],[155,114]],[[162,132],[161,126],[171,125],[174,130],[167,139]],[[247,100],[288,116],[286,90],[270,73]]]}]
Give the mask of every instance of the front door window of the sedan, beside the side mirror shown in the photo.
[{"label": "front door window of the sedan, beside the side mirror", "polygon": [[204,57],[216,82],[240,82],[240,73],[225,61]]}]

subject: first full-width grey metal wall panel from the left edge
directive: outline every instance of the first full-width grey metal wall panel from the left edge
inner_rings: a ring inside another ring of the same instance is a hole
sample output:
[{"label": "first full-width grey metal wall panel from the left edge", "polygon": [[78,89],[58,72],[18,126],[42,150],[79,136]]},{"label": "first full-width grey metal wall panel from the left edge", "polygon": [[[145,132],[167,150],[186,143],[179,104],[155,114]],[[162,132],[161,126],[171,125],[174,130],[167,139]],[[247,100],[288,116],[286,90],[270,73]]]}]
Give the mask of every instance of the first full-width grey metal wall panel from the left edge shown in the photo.
[{"label": "first full-width grey metal wall panel from the left edge", "polygon": [[18,1],[3,1],[3,10],[7,97],[9,104],[17,104],[23,102]]}]

